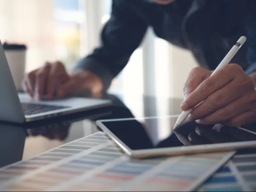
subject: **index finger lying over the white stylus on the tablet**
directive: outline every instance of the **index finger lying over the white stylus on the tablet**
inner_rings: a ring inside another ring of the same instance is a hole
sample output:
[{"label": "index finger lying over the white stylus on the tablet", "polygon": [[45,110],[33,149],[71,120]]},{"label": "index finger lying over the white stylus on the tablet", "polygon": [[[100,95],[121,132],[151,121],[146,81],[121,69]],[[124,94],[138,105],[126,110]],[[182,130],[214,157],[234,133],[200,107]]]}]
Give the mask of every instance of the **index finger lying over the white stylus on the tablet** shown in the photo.
[{"label": "index finger lying over the white stylus on the tablet", "polygon": [[[230,73],[232,71],[232,73]],[[244,73],[241,67],[237,64],[229,64],[215,74],[205,79],[188,97],[184,100],[181,105],[183,111],[187,111],[194,108],[198,103],[205,100],[213,92],[221,89],[233,79],[236,78],[237,74]]]}]

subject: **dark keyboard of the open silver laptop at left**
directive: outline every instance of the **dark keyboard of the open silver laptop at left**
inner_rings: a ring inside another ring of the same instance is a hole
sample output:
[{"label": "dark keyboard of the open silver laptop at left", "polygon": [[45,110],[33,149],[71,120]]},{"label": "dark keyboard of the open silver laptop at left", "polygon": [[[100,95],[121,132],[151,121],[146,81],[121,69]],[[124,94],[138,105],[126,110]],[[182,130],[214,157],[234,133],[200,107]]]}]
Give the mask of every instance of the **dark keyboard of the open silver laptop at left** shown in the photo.
[{"label": "dark keyboard of the open silver laptop at left", "polygon": [[66,106],[58,105],[45,105],[45,104],[35,104],[35,103],[21,103],[25,115],[34,115],[37,113],[43,113],[48,111],[53,111],[57,109],[68,108]]}]

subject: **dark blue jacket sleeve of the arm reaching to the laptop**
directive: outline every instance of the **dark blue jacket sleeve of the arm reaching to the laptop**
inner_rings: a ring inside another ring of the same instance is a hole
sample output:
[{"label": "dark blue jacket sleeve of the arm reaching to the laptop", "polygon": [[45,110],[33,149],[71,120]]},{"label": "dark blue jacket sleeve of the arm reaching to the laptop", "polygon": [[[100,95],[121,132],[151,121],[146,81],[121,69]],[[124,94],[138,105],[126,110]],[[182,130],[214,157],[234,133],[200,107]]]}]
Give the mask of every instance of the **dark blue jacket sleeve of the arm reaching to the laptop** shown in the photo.
[{"label": "dark blue jacket sleeve of the arm reaching to the laptop", "polygon": [[75,69],[86,69],[100,76],[104,89],[126,66],[132,52],[140,45],[147,23],[127,0],[113,0],[110,20],[101,33],[101,45],[80,60]]}]

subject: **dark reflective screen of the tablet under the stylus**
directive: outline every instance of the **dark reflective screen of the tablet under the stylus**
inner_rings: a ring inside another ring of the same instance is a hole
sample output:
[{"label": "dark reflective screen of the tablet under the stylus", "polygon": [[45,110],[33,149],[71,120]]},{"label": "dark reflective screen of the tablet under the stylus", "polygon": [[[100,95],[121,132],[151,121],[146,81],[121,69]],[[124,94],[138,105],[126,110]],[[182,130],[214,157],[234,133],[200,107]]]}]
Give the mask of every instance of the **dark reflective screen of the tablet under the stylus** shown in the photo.
[{"label": "dark reflective screen of the tablet under the stylus", "polygon": [[149,117],[102,123],[132,150],[256,140],[253,131],[221,124],[206,126],[188,121],[173,131],[177,118]]}]

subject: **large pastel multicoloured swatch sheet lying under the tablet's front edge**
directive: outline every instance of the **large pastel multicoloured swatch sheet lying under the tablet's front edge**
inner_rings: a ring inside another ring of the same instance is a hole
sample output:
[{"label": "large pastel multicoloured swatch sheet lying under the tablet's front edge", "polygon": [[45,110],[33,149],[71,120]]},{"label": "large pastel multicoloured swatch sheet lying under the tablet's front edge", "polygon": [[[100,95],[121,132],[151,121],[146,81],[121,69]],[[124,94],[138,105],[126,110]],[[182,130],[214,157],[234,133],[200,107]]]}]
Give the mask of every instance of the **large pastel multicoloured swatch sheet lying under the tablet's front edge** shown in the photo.
[{"label": "large pastel multicoloured swatch sheet lying under the tablet's front edge", "polygon": [[0,169],[0,191],[193,191],[234,152],[130,159],[103,132]]}]

